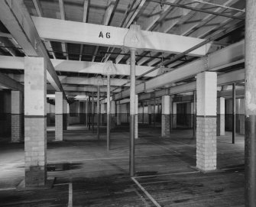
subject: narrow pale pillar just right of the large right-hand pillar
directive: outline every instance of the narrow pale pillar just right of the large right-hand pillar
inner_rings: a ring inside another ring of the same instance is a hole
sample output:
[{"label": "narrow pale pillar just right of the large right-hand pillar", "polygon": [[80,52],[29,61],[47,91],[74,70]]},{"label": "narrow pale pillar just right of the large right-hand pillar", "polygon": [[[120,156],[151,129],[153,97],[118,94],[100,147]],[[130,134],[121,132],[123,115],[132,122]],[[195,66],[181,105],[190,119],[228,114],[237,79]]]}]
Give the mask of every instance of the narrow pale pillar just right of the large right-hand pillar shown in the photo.
[{"label": "narrow pale pillar just right of the large right-hand pillar", "polygon": [[225,135],[225,98],[217,99],[217,136]]}]

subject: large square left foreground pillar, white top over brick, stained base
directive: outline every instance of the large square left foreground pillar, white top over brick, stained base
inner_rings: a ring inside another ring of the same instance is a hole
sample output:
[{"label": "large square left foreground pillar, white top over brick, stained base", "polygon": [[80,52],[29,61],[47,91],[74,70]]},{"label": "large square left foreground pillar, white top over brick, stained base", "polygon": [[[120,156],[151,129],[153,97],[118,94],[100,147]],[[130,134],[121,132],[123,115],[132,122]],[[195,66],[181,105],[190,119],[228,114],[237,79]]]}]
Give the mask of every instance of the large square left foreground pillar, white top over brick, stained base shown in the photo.
[{"label": "large square left foreground pillar, white top over brick, stained base", "polygon": [[47,180],[47,79],[43,57],[24,57],[25,186]]}]

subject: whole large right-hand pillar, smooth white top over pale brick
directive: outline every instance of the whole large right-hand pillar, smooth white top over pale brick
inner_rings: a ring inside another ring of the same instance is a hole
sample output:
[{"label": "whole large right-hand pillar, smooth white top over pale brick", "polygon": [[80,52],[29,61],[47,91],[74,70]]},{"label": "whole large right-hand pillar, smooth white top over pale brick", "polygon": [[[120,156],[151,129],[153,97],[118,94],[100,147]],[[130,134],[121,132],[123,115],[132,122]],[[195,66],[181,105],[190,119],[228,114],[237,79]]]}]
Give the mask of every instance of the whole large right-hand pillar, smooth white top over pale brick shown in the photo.
[{"label": "whole large right-hand pillar, smooth white top over pale brick", "polygon": [[196,167],[216,169],[217,74],[199,73],[196,77]]}]

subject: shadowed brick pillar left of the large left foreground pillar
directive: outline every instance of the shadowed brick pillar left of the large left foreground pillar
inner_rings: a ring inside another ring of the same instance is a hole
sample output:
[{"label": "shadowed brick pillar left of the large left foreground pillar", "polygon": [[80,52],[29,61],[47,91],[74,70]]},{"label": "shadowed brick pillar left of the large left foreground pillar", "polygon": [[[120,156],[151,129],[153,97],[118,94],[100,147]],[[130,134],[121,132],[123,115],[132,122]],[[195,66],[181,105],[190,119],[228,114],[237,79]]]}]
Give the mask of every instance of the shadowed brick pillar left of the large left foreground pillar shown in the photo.
[{"label": "shadowed brick pillar left of the large left foreground pillar", "polygon": [[11,91],[11,142],[22,141],[22,96],[20,91]]}]

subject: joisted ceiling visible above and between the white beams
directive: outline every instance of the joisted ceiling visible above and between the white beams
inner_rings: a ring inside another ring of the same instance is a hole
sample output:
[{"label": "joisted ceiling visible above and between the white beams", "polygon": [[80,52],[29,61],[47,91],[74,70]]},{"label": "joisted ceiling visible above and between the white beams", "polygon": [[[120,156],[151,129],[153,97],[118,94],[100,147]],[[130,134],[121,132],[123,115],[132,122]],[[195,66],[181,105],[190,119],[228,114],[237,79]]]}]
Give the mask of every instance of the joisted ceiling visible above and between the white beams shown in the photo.
[{"label": "joisted ceiling visible above and between the white beams", "polygon": [[[125,28],[130,27],[131,24],[139,24],[144,31],[157,31],[203,39],[212,37],[212,34],[219,34],[227,27],[234,27],[232,32],[223,34],[222,37],[214,41],[215,47],[212,47],[209,53],[229,44],[234,44],[245,37],[244,0],[24,0],[24,4],[31,16]],[[238,24],[239,27],[237,27]],[[44,40],[44,44],[51,59],[90,62],[112,60],[113,63],[129,64],[130,54],[119,48],[46,40]],[[0,54],[24,57],[22,48],[9,35],[8,30],[1,22]],[[137,65],[157,66],[164,60],[170,60],[176,54],[144,51],[137,52],[136,55]],[[174,63],[164,65],[164,67],[175,69],[198,58],[185,55]],[[237,67],[227,68],[226,71],[222,69],[222,73],[241,67],[240,64]],[[23,71],[3,69],[2,73],[22,74]],[[57,74],[59,76],[83,76],[87,78],[97,76],[93,73],[60,71],[57,71]],[[129,77],[113,75],[112,78],[128,79]],[[141,76],[140,79],[146,81],[151,78]],[[184,83],[193,80],[190,78],[179,82]],[[66,86],[73,85],[66,84]]]}]

